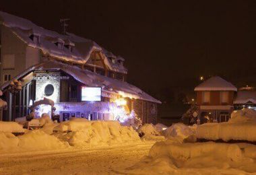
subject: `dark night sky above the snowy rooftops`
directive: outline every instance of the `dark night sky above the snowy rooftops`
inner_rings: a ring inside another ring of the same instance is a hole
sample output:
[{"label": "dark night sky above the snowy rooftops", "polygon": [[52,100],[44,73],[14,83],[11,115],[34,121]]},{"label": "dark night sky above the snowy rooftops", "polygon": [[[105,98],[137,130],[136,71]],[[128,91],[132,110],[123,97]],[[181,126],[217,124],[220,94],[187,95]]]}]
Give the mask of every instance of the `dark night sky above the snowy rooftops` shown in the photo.
[{"label": "dark night sky above the snowy rooftops", "polygon": [[124,57],[128,81],[153,94],[193,90],[199,75],[256,75],[256,1],[1,0],[0,10],[56,31],[70,18],[68,32]]}]

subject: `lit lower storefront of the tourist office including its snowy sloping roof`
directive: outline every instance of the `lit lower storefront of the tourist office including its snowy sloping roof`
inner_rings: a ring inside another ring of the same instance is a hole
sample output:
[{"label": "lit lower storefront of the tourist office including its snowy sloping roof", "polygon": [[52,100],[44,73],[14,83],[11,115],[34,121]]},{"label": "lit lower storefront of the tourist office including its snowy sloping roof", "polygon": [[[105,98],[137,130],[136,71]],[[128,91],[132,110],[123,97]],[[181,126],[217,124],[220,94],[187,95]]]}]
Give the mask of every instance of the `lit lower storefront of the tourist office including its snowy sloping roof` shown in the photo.
[{"label": "lit lower storefront of the tourist office including its snowy sloping roof", "polygon": [[[152,122],[152,116],[156,118],[156,102],[135,99],[137,94],[131,94],[135,88],[129,83],[71,68],[56,62],[45,63],[40,69],[19,75],[22,91],[17,94],[15,116],[27,116],[33,110],[36,117],[48,113],[52,118],[59,117],[59,121],[78,117],[125,122],[135,113],[144,117],[144,122]],[[2,85],[3,90],[7,87],[7,83]],[[139,93],[152,99],[146,93]],[[5,98],[11,103],[7,91]],[[11,120],[11,107],[4,112],[5,120]]]}]

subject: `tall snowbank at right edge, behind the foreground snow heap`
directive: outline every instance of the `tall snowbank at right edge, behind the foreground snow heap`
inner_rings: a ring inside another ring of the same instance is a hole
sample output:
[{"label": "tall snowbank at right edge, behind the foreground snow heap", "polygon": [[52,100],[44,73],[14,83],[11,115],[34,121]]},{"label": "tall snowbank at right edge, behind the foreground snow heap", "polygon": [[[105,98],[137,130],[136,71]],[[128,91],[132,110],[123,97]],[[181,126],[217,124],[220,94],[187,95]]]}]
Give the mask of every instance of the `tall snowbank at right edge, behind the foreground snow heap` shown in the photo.
[{"label": "tall snowbank at right edge, behind the foreground snow heap", "polygon": [[197,127],[198,139],[223,141],[241,140],[256,141],[256,112],[251,109],[232,112],[228,122],[205,123]]}]

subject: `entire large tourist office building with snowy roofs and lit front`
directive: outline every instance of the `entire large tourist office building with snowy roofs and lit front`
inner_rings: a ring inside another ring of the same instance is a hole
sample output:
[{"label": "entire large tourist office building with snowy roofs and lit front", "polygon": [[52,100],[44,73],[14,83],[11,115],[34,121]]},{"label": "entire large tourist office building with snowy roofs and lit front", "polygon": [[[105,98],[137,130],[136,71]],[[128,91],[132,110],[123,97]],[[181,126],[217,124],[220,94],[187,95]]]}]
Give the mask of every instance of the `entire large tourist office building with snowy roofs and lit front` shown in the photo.
[{"label": "entire large tourist office building with snowy roofs and lit front", "polygon": [[[125,59],[96,42],[45,30],[0,11],[2,120],[48,113],[59,120],[120,120],[136,115],[156,123],[160,101],[126,82]],[[12,93],[16,80],[22,88]]]}]

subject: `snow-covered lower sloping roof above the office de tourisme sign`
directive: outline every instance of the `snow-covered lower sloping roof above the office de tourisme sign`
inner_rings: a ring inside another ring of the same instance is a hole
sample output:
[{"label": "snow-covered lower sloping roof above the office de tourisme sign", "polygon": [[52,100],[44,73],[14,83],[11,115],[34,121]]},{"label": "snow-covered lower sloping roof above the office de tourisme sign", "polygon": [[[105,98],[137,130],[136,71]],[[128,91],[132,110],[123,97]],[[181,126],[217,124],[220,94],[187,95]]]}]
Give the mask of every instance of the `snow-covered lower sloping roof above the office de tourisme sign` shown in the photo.
[{"label": "snow-covered lower sloping roof above the office de tourisme sign", "polygon": [[[80,69],[79,67],[67,65],[57,61],[47,61],[30,67],[29,69],[27,69],[23,73],[20,73],[20,75],[14,77],[13,79],[20,79],[21,77],[24,77],[31,71],[40,70],[61,70],[71,75],[77,81],[84,83],[85,85],[88,85],[90,87],[102,87],[102,91],[105,92],[119,94],[124,98],[135,98],[150,102],[156,102],[159,104],[161,103],[159,100],[156,100],[152,96],[146,94],[146,92],[143,92],[139,88],[125,81],[120,81],[117,79],[99,75],[87,69]],[[9,85],[9,81],[1,85],[0,88],[3,90],[7,87],[7,85]]]}]

